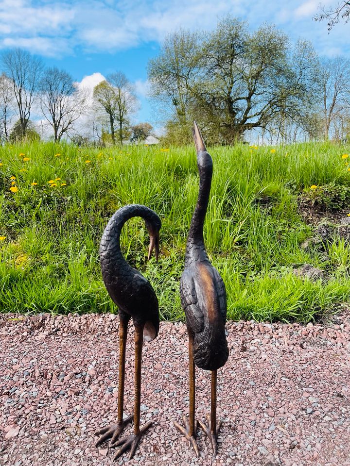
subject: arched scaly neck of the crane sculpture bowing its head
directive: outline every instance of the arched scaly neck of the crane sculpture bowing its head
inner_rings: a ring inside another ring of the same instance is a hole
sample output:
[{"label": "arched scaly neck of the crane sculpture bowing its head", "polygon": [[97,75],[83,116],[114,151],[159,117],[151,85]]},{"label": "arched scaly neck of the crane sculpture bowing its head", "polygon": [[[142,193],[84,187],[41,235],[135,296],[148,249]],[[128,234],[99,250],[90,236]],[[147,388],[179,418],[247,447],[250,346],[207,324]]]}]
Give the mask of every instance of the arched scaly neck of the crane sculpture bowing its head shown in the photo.
[{"label": "arched scaly neck of the crane sculpture bowing its head", "polygon": [[158,216],[149,207],[140,204],[126,205],[117,210],[110,218],[102,235],[100,243],[101,265],[106,254],[108,254],[109,260],[125,261],[120,247],[120,236],[124,223],[132,217],[141,217],[144,220],[152,221]]}]

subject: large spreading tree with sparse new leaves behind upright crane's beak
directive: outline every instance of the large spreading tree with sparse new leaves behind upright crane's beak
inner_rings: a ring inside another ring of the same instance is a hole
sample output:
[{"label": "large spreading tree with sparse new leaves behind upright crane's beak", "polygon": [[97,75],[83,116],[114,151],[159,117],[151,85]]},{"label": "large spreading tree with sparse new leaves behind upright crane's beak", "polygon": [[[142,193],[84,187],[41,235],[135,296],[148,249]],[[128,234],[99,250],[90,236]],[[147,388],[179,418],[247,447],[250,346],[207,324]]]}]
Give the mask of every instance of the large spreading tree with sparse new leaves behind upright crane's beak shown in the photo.
[{"label": "large spreading tree with sparse new leaves behind upright crane's beak", "polygon": [[280,128],[296,117],[302,121],[311,101],[315,52],[305,42],[291,50],[286,34],[274,26],[251,33],[230,16],[211,33],[168,36],[149,63],[152,96],[173,108],[174,124],[167,128],[177,137],[179,129],[190,135],[195,118],[209,142],[232,143],[278,119]]}]

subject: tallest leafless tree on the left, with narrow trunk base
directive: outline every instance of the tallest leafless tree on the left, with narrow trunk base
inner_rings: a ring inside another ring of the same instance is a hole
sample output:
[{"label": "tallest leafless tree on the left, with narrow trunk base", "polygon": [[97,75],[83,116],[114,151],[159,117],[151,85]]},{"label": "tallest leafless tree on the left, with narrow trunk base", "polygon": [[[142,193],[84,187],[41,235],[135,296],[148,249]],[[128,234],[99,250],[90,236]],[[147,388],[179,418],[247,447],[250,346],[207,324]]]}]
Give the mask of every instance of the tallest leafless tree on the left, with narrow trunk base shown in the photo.
[{"label": "tallest leafless tree on the left, with narrow trunk base", "polygon": [[2,63],[12,81],[21,132],[24,136],[37,95],[42,62],[25,50],[12,49],[3,53]]}]

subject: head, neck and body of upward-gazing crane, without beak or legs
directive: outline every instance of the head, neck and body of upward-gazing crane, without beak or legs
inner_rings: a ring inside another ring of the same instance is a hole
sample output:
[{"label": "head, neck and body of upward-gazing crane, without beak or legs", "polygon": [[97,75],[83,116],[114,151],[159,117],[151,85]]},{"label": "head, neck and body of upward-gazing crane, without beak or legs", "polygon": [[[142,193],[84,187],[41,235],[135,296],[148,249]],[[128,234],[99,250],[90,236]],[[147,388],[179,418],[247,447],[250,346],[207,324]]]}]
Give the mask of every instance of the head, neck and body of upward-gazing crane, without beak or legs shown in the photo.
[{"label": "head, neck and body of upward-gazing crane, without beak or legs", "polygon": [[180,296],[188,332],[194,336],[194,362],[202,369],[216,370],[228,359],[226,290],[219,272],[210,263],[203,239],[212,176],[212,160],[206,150],[197,153],[197,164],[199,193],[187,239]]}]

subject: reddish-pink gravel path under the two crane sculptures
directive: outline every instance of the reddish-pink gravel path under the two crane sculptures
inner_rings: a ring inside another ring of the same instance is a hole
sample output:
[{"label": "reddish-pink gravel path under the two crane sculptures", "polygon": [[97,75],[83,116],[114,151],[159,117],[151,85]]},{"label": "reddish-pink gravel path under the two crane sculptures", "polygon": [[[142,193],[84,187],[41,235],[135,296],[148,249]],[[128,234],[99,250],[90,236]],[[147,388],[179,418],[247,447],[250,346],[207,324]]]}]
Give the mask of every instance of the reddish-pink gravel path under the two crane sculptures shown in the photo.
[{"label": "reddish-pink gravel path under the two crane sculptures", "polygon": [[[229,322],[227,333],[216,460],[204,434],[196,458],[175,430],[173,420],[189,405],[187,333],[184,324],[161,323],[143,350],[141,425],[152,419],[154,426],[131,461],[123,455],[113,463],[106,444],[94,447],[93,433],[116,417],[118,317],[0,315],[0,464],[350,465],[349,311],[331,327]],[[204,418],[210,374],[196,375],[197,417]]]}]

